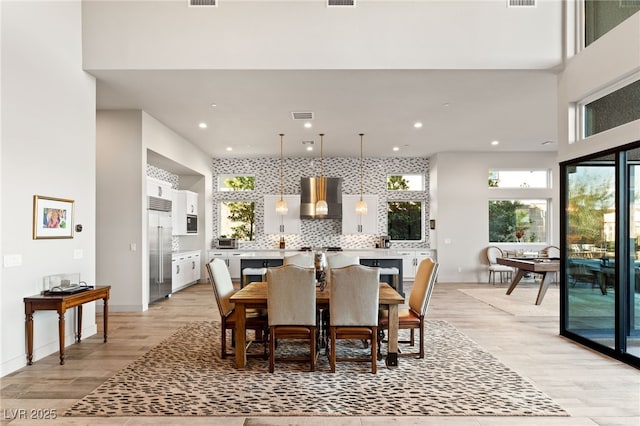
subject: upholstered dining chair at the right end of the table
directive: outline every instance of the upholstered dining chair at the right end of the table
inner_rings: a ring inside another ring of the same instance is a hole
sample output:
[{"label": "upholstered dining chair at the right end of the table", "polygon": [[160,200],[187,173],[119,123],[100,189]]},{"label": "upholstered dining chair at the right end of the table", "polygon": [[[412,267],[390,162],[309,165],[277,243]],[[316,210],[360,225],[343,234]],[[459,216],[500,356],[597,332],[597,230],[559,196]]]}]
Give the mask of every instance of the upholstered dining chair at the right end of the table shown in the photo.
[{"label": "upholstered dining chair at the right end of the table", "polygon": [[[418,352],[400,352],[399,355],[415,356],[424,358],[424,317],[427,314],[429,299],[435,286],[438,268],[440,265],[431,259],[424,259],[418,265],[416,278],[409,293],[409,307],[398,310],[398,328],[400,330],[410,330],[409,340],[401,340],[398,343],[415,346],[415,330],[420,333],[420,348]],[[389,329],[389,311],[380,311],[380,333],[378,343],[378,359],[382,359],[380,352],[380,342],[384,339],[384,330]]]}]

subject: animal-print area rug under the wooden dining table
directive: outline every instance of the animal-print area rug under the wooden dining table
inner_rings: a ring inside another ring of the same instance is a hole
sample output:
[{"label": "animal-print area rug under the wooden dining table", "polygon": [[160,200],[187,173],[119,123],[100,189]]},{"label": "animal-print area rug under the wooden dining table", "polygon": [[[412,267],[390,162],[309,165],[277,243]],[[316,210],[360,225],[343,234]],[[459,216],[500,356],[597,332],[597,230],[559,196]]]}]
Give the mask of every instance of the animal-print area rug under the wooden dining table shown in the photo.
[{"label": "animal-print area rug under the wooden dining table", "polygon": [[[220,358],[220,325],[195,322],[82,398],[66,416],[566,416],[532,383],[446,321],[427,321],[424,359],[399,366],[339,363],[321,351],[308,365]],[[279,342],[279,351],[295,344]],[[301,346],[302,347],[302,346]],[[308,346],[307,346],[308,347]],[[368,351],[346,342],[339,353]],[[254,351],[263,348],[254,345]],[[304,350],[304,348],[300,349]]]}]

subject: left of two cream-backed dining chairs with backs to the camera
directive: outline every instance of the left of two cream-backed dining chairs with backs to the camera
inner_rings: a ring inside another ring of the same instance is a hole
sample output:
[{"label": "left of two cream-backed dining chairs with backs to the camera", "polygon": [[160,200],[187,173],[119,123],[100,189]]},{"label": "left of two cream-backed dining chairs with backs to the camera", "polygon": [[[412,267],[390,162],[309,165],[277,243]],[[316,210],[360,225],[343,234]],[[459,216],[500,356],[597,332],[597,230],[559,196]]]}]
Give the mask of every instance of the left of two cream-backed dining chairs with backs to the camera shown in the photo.
[{"label": "left of two cream-backed dining chairs with backs to the camera", "polygon": [[[267,271],[269,313],[269,372],[275,361],[309,361],[316,369],[316,282],[313,268],[283,265]],[[279,339],[309,340],[309,356],[277,357]]]}]

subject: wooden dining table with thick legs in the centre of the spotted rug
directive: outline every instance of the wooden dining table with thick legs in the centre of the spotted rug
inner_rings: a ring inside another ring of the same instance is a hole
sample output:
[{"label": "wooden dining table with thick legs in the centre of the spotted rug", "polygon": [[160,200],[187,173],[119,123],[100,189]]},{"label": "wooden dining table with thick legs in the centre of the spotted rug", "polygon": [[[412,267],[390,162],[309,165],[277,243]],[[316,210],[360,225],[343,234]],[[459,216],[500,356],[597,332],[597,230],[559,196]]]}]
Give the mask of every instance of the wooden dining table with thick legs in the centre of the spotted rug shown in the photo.
[{"label": "wooden dining table with thick legs in the centre of the spotted rug", "polygon": [[[229,299],[235,304],[237,311],[235,329],[236,368],[243,369],[247,365],[246,353],[246,310],[247,308],[267,307],[267,283],[253,282],[241,288]],[[389,349],[385,363],[388,367],[398,366],[398,305],[405,302],[397,291],[387,283],[380,283],[379,304],[389,309]],[[320,289],[316,287],[316,305],[328,307],[331,303],[330,286]]]}]

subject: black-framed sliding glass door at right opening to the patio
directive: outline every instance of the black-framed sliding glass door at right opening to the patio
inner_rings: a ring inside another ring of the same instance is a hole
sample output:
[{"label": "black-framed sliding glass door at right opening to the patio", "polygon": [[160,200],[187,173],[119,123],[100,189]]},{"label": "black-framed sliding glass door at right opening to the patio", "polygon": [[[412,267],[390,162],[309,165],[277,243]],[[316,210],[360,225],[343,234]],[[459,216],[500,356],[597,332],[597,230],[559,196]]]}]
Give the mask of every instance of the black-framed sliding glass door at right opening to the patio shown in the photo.
[{"label": "black-framed sliding glass door at right opening to the patio", "polygon": [[640,365],[640,147],[562,165],[561,334]]}]

